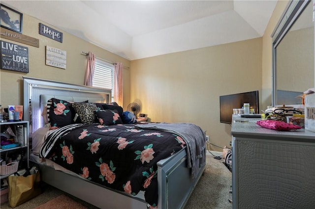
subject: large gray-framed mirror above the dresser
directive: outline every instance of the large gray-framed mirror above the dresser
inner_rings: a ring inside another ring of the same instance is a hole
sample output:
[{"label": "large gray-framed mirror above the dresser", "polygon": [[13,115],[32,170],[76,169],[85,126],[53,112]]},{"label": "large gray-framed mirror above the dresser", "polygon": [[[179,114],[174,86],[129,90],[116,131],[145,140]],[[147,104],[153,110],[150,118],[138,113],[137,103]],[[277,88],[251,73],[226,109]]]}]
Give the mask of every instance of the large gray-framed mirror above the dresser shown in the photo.
[{"label": "large gray-framed mirror above the dresser", "polygon": [[303,92],[315,86],[312,1],[290,1],[272,37],[272,105],[301,104]]}]

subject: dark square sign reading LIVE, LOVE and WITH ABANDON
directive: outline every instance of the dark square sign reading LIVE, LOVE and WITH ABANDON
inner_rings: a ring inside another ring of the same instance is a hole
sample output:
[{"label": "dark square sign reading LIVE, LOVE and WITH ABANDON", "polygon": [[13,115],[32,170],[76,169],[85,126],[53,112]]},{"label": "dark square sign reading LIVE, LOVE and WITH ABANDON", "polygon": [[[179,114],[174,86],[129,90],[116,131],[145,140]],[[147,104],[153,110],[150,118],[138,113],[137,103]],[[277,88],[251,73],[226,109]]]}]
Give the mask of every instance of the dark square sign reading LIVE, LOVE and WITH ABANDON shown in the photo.
[{"label": "dark square sign reading LIVE, LOVE and WITH ABANDON", "polygon": [[29,48],[1,41],[1,69],[29,73]]}]

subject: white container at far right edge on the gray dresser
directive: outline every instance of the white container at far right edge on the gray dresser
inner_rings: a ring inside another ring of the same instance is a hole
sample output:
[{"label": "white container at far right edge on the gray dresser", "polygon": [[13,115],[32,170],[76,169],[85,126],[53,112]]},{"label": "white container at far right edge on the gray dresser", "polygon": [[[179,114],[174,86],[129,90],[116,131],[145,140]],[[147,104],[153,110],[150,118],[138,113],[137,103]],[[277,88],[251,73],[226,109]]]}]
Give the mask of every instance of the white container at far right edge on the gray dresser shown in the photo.
[{"label": "white container at far right edge on the gray dresser", "polygon": [[306,95],[304,104],[305,130],[315,132],[315,93]]}]

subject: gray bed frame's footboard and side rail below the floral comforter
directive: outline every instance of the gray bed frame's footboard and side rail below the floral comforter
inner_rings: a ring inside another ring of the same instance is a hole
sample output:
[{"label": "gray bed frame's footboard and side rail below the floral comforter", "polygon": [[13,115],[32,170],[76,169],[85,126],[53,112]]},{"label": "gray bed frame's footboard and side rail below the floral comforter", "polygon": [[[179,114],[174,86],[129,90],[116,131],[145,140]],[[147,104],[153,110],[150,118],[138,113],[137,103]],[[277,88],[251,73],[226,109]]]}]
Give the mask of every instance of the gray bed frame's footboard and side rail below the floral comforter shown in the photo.
[{"label": "gray bed frame's footboard and side rail below the floral comforter", "polygon": [[[38,164],[41,180],[98,208],[147,209],[144,197],[129,196],[124,192],[104,187],[53,167]],[[197,178],[190,178],[186,149],[158,162],[158,209],[184,208],[196,183],[203,174],[201,167]]]}]

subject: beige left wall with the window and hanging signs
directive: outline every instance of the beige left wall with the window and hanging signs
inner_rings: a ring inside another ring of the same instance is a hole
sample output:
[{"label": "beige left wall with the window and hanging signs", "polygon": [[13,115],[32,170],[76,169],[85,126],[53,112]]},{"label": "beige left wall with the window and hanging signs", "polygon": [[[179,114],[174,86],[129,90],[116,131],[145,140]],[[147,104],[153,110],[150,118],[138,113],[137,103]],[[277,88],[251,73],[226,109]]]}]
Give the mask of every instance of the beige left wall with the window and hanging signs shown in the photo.
[{"label": "beige left wall with the window and hanging signs", "polygon": [[[23,13],[23,11],[21,12]],[[50,26],[63,32],[63,43],[40,35],[38,32],[39,23],[43,23],[46,26]],[[0,71],[0,104],[2,107],[7,107],[8,104],[23,104],[23,76],[58,80],[83,85],[86,68],[86,56],[81,54],[82,51],[91,51],[98,57],[112,62],[122,62],[126,67],[130,66],[129,60],[103,50],[87,41],[70,35],[59,28],[37,20],[25,13],[23,14],[23,34],[39,39],[39,48],[7,39],[1,39],[3,41],[28,47],[29,49],[29,73],[19,73],[2,69]],[[67,66],[65,70],[45,65],[46,45],[67,52]],[[129,104],[129,74],[129,69],[124,69],[124,106]]]}]

